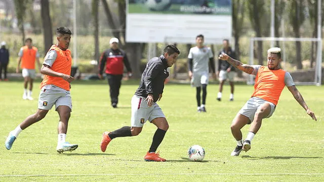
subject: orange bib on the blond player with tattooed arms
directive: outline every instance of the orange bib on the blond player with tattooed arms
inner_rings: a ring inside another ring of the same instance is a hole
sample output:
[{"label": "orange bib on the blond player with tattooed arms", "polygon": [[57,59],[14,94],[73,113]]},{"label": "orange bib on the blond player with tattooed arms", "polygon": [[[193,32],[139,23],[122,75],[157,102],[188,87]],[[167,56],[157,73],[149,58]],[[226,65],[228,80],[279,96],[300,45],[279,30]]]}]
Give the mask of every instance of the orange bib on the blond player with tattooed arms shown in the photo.
[{"label": "orange bib on the blond player with tattooed arms", "polygon": [[277,105],[282,89],[285,87],[286,71],[282,69],[270,70],[261,66],[255,78],[254,93],[258,97]]}]

